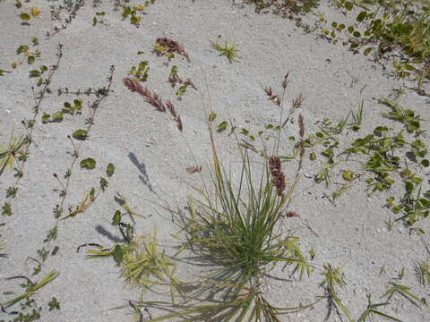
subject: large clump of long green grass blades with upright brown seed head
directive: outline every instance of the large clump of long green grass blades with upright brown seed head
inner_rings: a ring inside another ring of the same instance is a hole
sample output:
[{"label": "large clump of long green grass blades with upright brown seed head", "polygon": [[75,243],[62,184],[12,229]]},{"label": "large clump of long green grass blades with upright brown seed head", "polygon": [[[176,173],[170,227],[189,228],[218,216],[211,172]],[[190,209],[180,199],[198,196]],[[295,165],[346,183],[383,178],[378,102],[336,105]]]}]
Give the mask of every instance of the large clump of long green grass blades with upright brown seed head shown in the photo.
[{"label": "large clump of long green grass blades with upright brown seed head", "polygon": [[[285,92],[286,80],[282,86]],[[282,100],[283,97],[281,109]],[[249,155],[249,149],[244,148],[236,137],[239,165],[235,170],[227,170],[218,157],[213,131],[214,112],[210,112],[207,119],[211,137],[211,184],[207,185],[203,180],[204,189],[193,187],[197,196],[188,198],[188,214],[178,214],[185,232],[185,242],[178,253],[191,250],[213,268],[201,281],[183,283],[193,284],[197,291],[186,294],[186,301],[175,305],[172,313],[152,318],[152,321],[185,317],[198,321],[280,321],[282,313],[314,305],[277,308],[262,292],[262,277],[280,263],[295,265],[292,274],[299,272],[300,277],[312,271],[299,248],[299,238],[280,232],[284,218],[298,216],[288,211],[288,202],[297,185],[304,157],[303,116],[298,118],[301,142],[297,174],[288,181],[279,157],[279,138],[271,153],[264,148],[263,162],[258,167]],[[282,120],[281,117],[280,123]],[[194,304],[203,294],[215,300]],[[133,303],[135,308],[145,305],[172,309],[166,302]]]}]

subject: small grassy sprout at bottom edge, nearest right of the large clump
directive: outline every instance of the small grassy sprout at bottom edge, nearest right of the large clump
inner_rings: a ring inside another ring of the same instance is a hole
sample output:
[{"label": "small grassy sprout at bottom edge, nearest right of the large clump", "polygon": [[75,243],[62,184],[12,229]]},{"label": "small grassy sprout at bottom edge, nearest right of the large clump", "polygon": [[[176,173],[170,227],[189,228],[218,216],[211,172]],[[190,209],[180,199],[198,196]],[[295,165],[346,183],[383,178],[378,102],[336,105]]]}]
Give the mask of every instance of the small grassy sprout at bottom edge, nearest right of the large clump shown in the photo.
[{"label": "small grassy sprout at bottom edge, nearest right of the large clump", "polygon": [[329,300],[329,311],[327,313],[327,319],[330,318],[331,308],[334,305],[336,309],[340,309],[348,318],[348,321],[353,322],[354,319],[351,317],[351,314],[347,307],[340,300],[338,295],[338,287],[344,287],[346,285],[343,274],[341,273],[342,267],[334,268],[331,267],[331,264],[324,264],[323,266],[323,287],[327,292],[327,298]]}]

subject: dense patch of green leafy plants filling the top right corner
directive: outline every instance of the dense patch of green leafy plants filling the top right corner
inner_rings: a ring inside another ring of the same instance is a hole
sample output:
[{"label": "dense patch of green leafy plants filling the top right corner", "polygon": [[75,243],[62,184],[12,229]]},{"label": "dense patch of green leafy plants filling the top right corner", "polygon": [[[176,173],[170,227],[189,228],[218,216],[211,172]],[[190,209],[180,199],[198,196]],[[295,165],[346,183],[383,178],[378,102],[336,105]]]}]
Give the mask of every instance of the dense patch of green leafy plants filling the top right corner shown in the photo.
[{"label": "dense patch of green leafy plants filling the top right corner", "polygon": [[[360,7],[356,15],[356,24],[346,25],[337,21],[331,22],[330,30],[323,34],[331,36],[337,42],[337,33],[348,37],[343,42],[351,50],[358,52],[364,48],[363,54],[374,52],[375,59],[392,57],[400,49],[400,60],[392,59],[395,72],[403,78],[417,80],[417,93],[426,95],[422,85],[430,76],[428,57],[428,19],[430,17],[427,0],[366,0],[336,1],[337,6],[345,14]],[[325,19],[320,21],[328,22]]]}]

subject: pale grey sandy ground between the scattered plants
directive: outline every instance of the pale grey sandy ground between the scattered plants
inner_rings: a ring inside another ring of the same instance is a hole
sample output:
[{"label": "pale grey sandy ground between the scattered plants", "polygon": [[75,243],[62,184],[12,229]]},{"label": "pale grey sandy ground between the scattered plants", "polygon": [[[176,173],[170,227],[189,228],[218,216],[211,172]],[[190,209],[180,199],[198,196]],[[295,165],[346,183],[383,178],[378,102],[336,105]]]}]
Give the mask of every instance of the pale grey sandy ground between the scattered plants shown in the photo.
[{"label": "pale grey sandy ground between the scattered plants", "polygon": [[[237,1],[236,1],[237,2]],[[30,44],[30,38],[38,37],[41,58],[38,64],[54,64],[56,45],[64,46],[64,57],[52,80],[52,94],[44,99],[42,112],[55,112],[64,101],[73,96],[58,97],[56,90],[99,88],[106,86],[110,65],[115,65],[113,90],[99,107],[90,140],[85,141],[82,157],[93,157],[97,167],[86,171],[75,167],[70,194],[65,208],[73,207],[82,199],[90,187],[99,186],[99,176],[104,175],[108,163],[116,166],[116,172],[109,178],[107,191],[100,193],[97,202],[85,214],[60,222],[58,239],[50,244],[59,247],[55,256],[44,264],[43,272],[56,269],[60,276],[38,292],[39,302],[49,301],[56,296],[61,310],[48,312],[44,309],[42,321],[126,321],[132,318],[130,309],[116,309],[126,304],[125,300],[137,299],[138,289],[123,285],[115,262],[110,258],[85,259],[84,252],[76,248],[86,242],[97,242],[110,246],[120,238],[115,227],[110,225],[111,217],[118,208],[114,200],[116,192],[127,197],[130,204],[145,218],[136,218],[138,232],[147,233],[154,228],[160,242],[168,251],[177,245],[171,237],[176,233],[170,215],[154,202],[165,200],[172,208],[184,208],[186,196],[192,193],[190,185],[201,184],[198,176],[185,172],[194,165],[193,155],[203,165],[203,173],[209,171],[210,145],[205,122],[205,106],[211,104],[218,114],[217,122],[232,117],[238,127],[254,131],[262,129],[265,123],[274,123],[279,111],[267,101],[262,88],[271,86],[280,91],[284,74],[290,71],[287,100],[303,93],[305,101],[301,113],[305,116],[306,128],[310,132],[315,121],[330,117],[338,120],[356,108],[358,102],[365,102],[365,128],[372,131],[380,125],[379,116],[383,107],[374,98],[386,97],[391,89],[398,89],[403,80],[396,80],[383,72],[382,66],[363,55],[353,55],[341,44],[333,45],[316,34],[306,34],[293,21],[271,14],[257,14],[250,6],[234,5],[228,0],[176,0],[157,1],[147,9],[141,27],[135,28],[128,21],[121,21],[121,15],[114,12],[113,4],[103,2],[98,8],[86,4],[72,23],[58,35],[47,38],[44,30],[52,30],[58,24],[51,21],[48,2],[31,0],[24,7],[37,6],[41,13],[22,26],[17,17],[22,10],[10,1],[0,3],[0,57],[5,67],[17,60],[15,50],[22,44]],[[336,15],[334,8],[323,4],[318,9],[328,16]],[[95,12],[106,12],[104,24],[92,26]],[[313,20],[311,16],[309,18]],[[211,49],[209,42],[229,38],[237,43],[240,63],[229,64]],[[170,37],[185,46],[190,62],[176,56],[169,66],[166,57],[151,53],[156,38]],[[142,51],[142,55],[137,55]],[[122,84],[132,65],[147,60],[150,77],[146,85],[157,89],[160,96],[172,99],[184,122],[184,138],[175,123],[155,111],[142,101],[142,97],[130,93]],[[170,88],[168,74],[170,66],[176,64],[179,75],[191,78],[198,91],[189,89],[182,100],[177,100]],[[5,69],[5,68],[4,68]],[[22,119],[31,117],[33,98],[30,87],[35,80],[29,79],[30,66],[22,64],[10,74],[0,78],[0,140],[9,138],[14,128],[21,132]],[[351,80],[357,82],[351,86]],[[366,87],[365,87],[366,85]],[[364,89],[363,89],[364,87]],[[360,89],[363,89],[360,93]],[[203,96],[203,98],[202,98]],[[88,97],[82,96],[87,102]],[[402,98],[403,106],[414,108],[426,120],[430,119],[428,102],[413,91]],[[72,159],[66,136],[83,127],[85,115],[66,117],[62,123],[42,124],[37,119],[34,143],[30,148],[30,159],[26,174],[20,184],[20,193],[13,200],[14,215],[2,218],[3,238],[7,257],[0,258],[0,275],[30,275],[31,263],[28,257],[36,257],[36,251],[43,246],[47,230],[55,225],[52,208],[58,202],[58,182],[52,174],[64,174]],[[384,121],[391,124],[388,121]],[[395,126],[395,124],[392,124]],[[423,123],[428,130],[428,121]],[[297,135],[297,125],[291,124],[282,133],[284,141],[290,135]],[[428,138],[427,138],[428,139]],[[233,140],[227,133],[217,134],[221,155],[230,156]],[[427,143],[428,140],[427,140]],[[288,151],[288,143],[284,144]],[[306,162],[304,173],[314,175],[318,168]],[[293,174],[293,170],[288,172]],[[428,179],[428,174],[427,179]],[[104,175],[106,176],[106,175]],[[6,172],[0,177],[0,189],[12,185],[13,176]],[[427,287],[418,284],[415,276],[417,260],[428,258],[425,242],[427,235],[409,234],[402,225],[395,225],[387,231],[385,221],[391,212],[383,208],[387,194],[368,197],[365,183],[360,182],[339,199],[337,207],[324,198],[323,184],[303,176],[291,209],[301,215],[291,219],[288,229],[302,240],[304,250],[314,246],[314,263],[319,270],[302,281],[280,282],[268,278],[268,298],[274,306],[296,307],[313,301],[323,294],[319,287],[322,281],[321,266],[330,262],[344,267],[347,286],[340,292],[346,306],[357,318],[366,308],[366,294],[373,293],[374,301],[387,289],[387,282],[400,274],[402,267],[408,274],[400,281],[412,288],[420,297],[430,301]],[[401,191],[398,191],[399,194]],[[0,195],[4,203],[4,192]],[[312,227],[314,233],[306,228]],[[428,221],[419,224],[428,229]],[[193,262],[178,267],[178,277],[193,280],[201,267]],[[380,275],[385,265],[387,273]],[[275,269],[272,275],[287,277],[288,272]],[[40,276],[40,275],[39,275]],[[0,281],[2,292],[14,290],[11,281]],[[148,301],[166,299],[166,294],[146,295]],[[1,301],[7,296],[0,294]],[[313,309],[282,316],[283,321],[323,321],[327,302],[319,302]],[[151,311],[155,315],[155,310]],[[394,296],[390,308],[386,309],[403,321],[426,321],[430,309],[418,308],[401,296]],[[9,318],[2,316],[0,318]],[[340,320],[334,313],[330,320]]]}]

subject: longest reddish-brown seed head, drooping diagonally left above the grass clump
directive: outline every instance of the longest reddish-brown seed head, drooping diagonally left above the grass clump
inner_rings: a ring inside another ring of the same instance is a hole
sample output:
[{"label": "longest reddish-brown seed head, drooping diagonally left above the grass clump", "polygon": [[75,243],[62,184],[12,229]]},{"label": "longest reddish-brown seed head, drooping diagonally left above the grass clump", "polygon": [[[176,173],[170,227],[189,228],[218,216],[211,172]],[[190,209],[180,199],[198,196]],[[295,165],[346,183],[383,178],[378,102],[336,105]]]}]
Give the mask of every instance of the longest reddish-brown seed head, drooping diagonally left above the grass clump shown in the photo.
[{"label": "longest reddish-brown seed head, drooping diagonally left above the grass clump", "polygon": [[157,93],[153,93],[150,91],[150,89],[143,87],[137,80],[126,77],[123,79],[123,82],[127,89],[140,94],[146,102],[148,102],[151,106],[154,106],[159,112],[166,113],[166,111],[168,111],[173,116],[173,119],[176,122],[176,127],[179,131],[184,129],[181,116],[176,113],[175,106],[173,106],[170,100],[168,100],[166,104],[163,103]]}]

